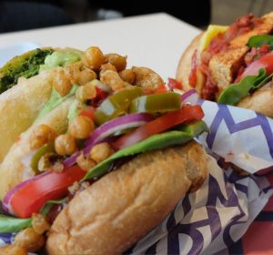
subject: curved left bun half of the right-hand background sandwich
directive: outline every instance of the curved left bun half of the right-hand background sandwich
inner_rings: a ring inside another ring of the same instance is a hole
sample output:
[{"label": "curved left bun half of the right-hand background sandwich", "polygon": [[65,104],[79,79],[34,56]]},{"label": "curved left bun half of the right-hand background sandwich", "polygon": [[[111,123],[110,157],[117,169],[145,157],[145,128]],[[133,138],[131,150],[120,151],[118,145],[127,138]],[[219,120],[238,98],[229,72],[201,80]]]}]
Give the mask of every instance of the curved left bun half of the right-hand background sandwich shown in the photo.
[{"label": "curved left bun half of the right-hand background sandwich", "polygon": [[[188,83],[188,76],[191,71],[191,62],[192,56],[194,55],[195,51],[198,49],[200,44],[200,39],[203,36],[204,32],[200,35],[196,36],[193,41],[187,46],[186,51],[183,53],[179,60],[179,64],[177,66],[177,80],[182,83],[183,89],[185,91],[191,89]],[[197,57],[199,54],[197,53]]]}]

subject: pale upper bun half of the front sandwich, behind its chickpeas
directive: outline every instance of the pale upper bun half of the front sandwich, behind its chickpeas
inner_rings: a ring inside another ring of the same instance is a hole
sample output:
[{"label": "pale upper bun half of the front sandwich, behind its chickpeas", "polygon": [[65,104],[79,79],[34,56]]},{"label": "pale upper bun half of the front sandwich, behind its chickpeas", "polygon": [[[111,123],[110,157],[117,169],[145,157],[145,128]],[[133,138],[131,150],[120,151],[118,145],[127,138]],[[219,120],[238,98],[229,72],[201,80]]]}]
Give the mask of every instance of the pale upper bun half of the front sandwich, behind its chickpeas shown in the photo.
[{"label": "pale upper bun half of the front sandwich, behind its chickpeas", "polygon": [[[33,130],[40,124],[45,124],[56,131],[56,134],[66,132],[68,125],[67,114],[73,98],[66,100],[61,106],[56,107],[39,122],[21,134],[20,138],[10,148],[4,161],[0,165],[0,199],[3,199],[9,189],[34,176],[34,172],[25,167],[25,159],[31,158],[30,138]],[[8,126],[7,126],[8,127]],[[29,164],[29,162],[28,162]]]}]

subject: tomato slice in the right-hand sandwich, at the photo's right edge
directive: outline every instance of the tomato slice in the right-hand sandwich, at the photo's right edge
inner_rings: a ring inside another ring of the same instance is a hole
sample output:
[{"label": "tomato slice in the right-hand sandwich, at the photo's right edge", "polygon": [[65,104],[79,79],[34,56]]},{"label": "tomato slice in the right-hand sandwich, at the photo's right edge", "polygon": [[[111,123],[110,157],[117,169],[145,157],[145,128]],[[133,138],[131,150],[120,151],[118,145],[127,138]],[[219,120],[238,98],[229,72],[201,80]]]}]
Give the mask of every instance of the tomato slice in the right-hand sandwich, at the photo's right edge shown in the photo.
[{"label": "tomato slice in the right-hand sandwich, at the photo's right edge", "polygon": [[273,51],[252,62],[236,79],[236,82],[239,82],[245,76],[257,76],[260,68],[265,68],[268,75],[273,73]]}]

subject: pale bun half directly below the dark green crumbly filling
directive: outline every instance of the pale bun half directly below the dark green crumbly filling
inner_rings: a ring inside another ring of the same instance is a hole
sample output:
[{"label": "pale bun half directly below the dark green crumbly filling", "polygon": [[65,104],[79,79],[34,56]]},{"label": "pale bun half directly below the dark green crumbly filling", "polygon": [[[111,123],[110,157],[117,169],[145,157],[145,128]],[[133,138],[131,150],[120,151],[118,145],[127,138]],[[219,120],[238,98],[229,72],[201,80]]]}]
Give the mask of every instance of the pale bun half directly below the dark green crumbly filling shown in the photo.
[{"label": "pale bun half directly below the dark green crumbly filling", "polygon": [[0,95],[0,163],[16,138],[29,128],[51,94],[52,71],[18,84]]}]

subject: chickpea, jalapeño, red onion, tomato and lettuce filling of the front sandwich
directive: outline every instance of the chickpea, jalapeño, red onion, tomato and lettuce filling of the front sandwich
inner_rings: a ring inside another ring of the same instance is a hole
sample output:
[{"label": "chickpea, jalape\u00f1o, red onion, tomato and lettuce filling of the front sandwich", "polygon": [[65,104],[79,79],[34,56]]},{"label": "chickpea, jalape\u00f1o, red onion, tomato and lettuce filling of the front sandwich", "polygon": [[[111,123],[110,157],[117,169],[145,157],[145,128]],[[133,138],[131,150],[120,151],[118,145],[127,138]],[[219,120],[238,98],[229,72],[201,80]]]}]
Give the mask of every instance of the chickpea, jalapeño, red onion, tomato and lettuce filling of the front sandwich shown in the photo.
[{"label": "chickpea, jalape\u00f1o, red onion, tomato and lettuce filling of the front sandwich", "polygon": [[[1,233],[18,233],[10,249],[39,250],[57,214],[78,192],[140,153],[187,143],[204,131],[197,92],[180,95],[179,84],[146,67],[126,69],[126,57],[90,47],[81,61],[56,69],[52,101],[76,94],[68,128],[59,136],[35,128],[26,167],[35,177],[3,200]],[[46,105],[50,108],[51,103]],[[50,110],[50,109],[49,109]],[[35,237],[31,244],[26,240]]]}]

